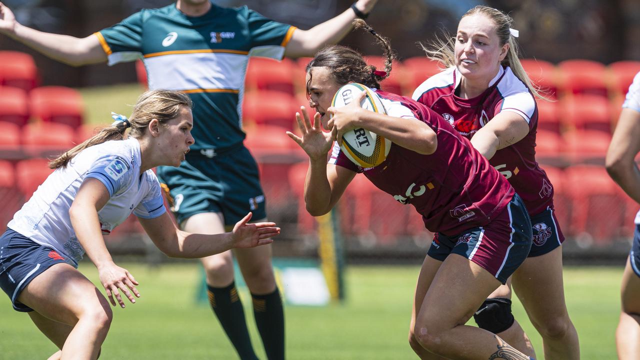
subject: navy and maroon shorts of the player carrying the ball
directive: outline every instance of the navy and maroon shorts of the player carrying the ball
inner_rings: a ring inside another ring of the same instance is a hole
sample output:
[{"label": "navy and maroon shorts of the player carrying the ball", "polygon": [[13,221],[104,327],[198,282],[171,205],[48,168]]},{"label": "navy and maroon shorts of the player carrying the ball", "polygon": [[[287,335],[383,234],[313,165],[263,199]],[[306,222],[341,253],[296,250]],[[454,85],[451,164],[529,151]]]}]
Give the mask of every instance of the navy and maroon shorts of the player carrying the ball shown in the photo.
[{"label": "navy and maroon shorts of the player carrying the ball", "polygon": [[458,254],[490,272],[502,284],[522,264],[531,249],[531,220],[518,194],[493,220],[455,236],[437,233],[428,256],[444,261]]}]

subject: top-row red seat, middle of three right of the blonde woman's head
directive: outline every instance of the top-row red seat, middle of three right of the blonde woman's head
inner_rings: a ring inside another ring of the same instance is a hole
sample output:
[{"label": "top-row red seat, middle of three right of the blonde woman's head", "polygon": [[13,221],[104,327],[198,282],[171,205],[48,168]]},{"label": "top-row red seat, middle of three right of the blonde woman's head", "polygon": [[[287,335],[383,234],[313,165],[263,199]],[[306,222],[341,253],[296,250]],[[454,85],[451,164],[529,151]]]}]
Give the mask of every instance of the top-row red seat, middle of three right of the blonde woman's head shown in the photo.
[{"label": "top-row red seat, middle of three right of the blonde woman's head", "polygon": [[561,70],[561,92],[565,95],[591,94],[607,97],[606,67],[598,61],[564,60],[558,64]]}]

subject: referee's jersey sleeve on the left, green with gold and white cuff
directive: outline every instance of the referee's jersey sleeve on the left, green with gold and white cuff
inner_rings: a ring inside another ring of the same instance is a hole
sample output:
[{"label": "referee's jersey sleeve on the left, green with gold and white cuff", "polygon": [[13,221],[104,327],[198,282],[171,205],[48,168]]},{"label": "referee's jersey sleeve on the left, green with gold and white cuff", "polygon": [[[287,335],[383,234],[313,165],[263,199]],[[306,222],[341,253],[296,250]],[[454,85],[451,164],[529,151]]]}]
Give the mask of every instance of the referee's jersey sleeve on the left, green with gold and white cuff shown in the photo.
[{"label": "referee's jersey sleeve on the left, green with gold and white cuff", "polygon": [[142,57],[143,16],[143,11],[134,13],[111,28],[95,33],[107,54],[109,65]]}]

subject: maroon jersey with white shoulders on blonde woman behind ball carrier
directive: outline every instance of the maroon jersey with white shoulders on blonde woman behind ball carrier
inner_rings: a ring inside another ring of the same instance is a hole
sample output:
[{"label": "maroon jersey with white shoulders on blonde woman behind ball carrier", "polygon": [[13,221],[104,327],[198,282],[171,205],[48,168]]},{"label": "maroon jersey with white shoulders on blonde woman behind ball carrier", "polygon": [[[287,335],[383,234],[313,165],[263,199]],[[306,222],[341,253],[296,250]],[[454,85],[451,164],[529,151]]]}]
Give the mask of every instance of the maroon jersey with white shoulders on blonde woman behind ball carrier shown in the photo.
[{"label": "maroon jersey with white shoulders on blonde woman behind ball carrier", "polygon": [[501,68],[483,94],[462,99],[454,94],[460,72],[450,67],[418,86],[413,99],[442,115],[458,132],[470,139],[500,111],[513,111],[529,123],[529,134],[519,142],[500,149],[490,160],[515,188],[531,215],[553,207],[553,186],[536,161],[538,108],[527,86],[511,68]]}]

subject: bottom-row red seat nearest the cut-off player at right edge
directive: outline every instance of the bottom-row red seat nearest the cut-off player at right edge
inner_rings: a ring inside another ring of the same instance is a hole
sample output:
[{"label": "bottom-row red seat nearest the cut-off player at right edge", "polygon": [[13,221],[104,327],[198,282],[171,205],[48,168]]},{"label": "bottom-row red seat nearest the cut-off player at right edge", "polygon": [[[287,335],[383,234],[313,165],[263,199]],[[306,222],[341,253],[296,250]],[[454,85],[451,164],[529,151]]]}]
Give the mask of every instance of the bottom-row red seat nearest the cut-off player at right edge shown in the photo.
[{"label": "bottom-row red seat nearest the cut-off player at right edge", "polygon": [[618,187],[603,167],[573,166],[565,170],[572,198],[570,233],[590,245],[605,245],[620,236],[623,207]]}]

